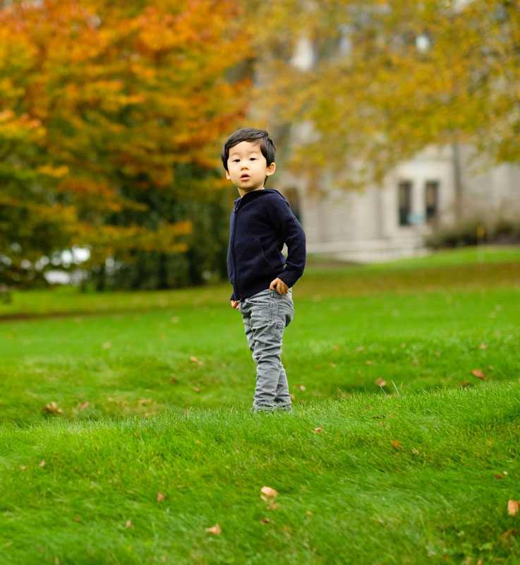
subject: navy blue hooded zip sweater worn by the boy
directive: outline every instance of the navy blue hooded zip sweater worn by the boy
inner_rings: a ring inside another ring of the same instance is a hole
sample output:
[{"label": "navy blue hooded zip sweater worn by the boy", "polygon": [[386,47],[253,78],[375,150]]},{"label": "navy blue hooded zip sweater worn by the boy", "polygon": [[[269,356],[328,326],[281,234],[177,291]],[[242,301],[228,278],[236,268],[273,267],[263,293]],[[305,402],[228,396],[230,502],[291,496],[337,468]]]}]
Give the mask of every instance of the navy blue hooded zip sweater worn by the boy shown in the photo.
[{"label": "navy blue hooded zip sweater worn by the boy", "polygon": [[[282,254],[284,244],[287,258]],[[293,286],[303,274],[305,261],[305,232],[282,194],[263,189],[236,199],[227,251],[231,300],[266,290],[277,277]]]}]

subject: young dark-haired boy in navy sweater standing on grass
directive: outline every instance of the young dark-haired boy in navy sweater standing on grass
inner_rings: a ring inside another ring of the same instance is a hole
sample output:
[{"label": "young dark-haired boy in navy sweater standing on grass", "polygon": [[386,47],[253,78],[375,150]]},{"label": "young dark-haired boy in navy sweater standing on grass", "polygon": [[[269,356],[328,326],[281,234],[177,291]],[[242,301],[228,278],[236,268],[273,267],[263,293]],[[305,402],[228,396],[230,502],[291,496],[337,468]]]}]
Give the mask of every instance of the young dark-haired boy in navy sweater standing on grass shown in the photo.
[{"label": "young dark-haired boy in navy sweater standing on grass", "polygon": [[231,307],[242,314],[257,364],[255,412],[292,410],[280,356],[282,335],[294,314],[291,287],[306,261],[305,232],[289,203],[264,187],[276,168],[275,151],[267,131],[251,128],[232,133],[222,148],[226,178],[240,194],[231,212],[227,267]]}]

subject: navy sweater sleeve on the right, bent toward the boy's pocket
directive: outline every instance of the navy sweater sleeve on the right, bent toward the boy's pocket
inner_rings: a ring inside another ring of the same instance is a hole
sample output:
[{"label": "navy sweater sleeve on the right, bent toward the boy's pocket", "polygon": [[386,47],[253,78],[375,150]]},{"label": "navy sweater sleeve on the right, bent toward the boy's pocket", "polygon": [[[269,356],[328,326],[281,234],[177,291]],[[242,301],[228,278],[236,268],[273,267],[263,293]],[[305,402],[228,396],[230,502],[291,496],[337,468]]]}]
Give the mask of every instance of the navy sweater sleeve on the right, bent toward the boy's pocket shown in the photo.
[{"label": "navy sweater sleeve on the right, bent toward the boy's pocket", "polygon": [[292,287],[298,278],[303,275],[306,263],[306,235],[300,222],[292,213],[289,202],[280,195],[276,206],[270,206],[270,218],[282,232],[284,244],[287,246],[286,266],[278,278],[282,279],[288,287]]}]

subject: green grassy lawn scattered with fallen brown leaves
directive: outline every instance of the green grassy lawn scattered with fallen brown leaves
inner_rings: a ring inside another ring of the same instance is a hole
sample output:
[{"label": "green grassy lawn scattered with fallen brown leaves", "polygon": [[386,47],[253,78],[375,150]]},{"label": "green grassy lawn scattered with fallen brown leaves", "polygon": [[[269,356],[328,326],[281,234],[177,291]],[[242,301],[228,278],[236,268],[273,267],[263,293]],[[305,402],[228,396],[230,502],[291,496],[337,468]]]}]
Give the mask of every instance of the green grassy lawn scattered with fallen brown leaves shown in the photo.
[{"label": "green grassy lawn scattered with fallen brown leaves", "polygon": [[293,415],[230,294],[0,306],[0,564],[520,562],[518,248],[311,261]]}]

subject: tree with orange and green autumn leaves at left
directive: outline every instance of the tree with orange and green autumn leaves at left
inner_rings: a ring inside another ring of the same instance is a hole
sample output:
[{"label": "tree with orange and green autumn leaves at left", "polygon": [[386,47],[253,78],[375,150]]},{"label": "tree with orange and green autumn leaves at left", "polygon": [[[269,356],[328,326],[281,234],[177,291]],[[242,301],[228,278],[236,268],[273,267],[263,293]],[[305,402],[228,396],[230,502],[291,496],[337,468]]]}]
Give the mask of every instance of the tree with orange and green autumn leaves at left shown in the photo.
[{"label": "tree with orange and green autumn leaves at left", "polygon": [[233,0],[0,9],[1,280],[29,283],[73,245],[98,270],[191,249],[245,108],[237,15]]}]

